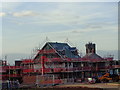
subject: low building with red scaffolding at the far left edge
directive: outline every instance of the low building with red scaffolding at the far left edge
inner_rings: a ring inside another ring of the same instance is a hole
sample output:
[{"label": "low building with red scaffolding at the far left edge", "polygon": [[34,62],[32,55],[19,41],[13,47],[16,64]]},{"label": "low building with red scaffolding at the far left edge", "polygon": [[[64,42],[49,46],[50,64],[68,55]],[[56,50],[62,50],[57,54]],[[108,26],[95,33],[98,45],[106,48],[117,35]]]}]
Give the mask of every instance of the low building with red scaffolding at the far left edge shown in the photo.
[{"label": "low building with red scaffolding at the far left edge", "polygon": [[[15,61],[16,63],[18,61]],[[22,61],[20,61],[22,63]],[[3,82],[9,81],[16,81],[18,80],[22,83],[22,67],[20,66],[21,63],[15,64],[15,66],[11,66],[7,63],[6,60],[1,60],[0,66],[0,75]]]}]

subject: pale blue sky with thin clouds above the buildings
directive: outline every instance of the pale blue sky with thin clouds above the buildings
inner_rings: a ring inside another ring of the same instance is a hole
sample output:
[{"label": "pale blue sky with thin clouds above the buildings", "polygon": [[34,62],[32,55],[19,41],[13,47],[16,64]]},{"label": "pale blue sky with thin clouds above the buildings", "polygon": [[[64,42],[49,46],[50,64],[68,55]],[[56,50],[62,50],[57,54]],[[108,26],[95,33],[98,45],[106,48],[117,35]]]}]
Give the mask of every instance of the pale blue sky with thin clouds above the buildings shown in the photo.
[{"label": "pale blue sky with thin clouds above the buildings", "polygon": [[93,42],[99,54],[117,58],[117,2],[3,2],[1,8],[0,52],[10,63],[29,58],[46,37],[55,42],[68,38],[82,53]]}]

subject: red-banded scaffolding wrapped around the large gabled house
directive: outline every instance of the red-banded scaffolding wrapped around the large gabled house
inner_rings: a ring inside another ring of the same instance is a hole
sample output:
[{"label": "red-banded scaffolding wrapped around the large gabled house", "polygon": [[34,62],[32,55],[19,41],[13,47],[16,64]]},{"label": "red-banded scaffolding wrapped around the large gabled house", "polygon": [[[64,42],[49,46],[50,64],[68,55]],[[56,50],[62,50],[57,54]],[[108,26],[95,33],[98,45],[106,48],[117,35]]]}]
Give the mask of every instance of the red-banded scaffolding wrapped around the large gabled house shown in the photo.
[{"label": "red-banded scaffolding wrapped around the large gabled house", "polygon": [[[76,55],[77,53],[68,50],[73,50],[74,48],[66,47],[67,49],[65,51],[64,49],[57,48],[55,45],[54,48],[51,46],[52,45],[48,48],[46,45],[47,48],[44,46],[41,50],[38,50],[34,59],[23,60],[23,74],[28,74],[31,77],[35,75],[35,83],[37,84],[73,83],[80,78],[92,77],[95,72],[105,72],[106,69],[112,68],[109,65],[103,67],[98,66],[99,63],[113,61],[112,57],[102,58],[102,60],[76,58],[73,57],[73,54]],[[75,50],[76,49],[73,51]],[[69,55],[67,56],[65,53]],[[90,73],[90,75],[88,75],[88,73]],[[98,75],[98,73],[96,75]]]}]

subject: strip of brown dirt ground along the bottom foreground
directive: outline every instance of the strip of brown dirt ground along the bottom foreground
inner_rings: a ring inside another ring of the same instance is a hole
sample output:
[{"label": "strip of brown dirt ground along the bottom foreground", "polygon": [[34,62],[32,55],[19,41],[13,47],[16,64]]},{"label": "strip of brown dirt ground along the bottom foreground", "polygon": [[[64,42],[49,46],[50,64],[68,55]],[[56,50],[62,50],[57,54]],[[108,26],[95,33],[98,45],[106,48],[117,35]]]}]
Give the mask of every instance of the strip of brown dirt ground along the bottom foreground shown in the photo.
[{"label": "strip of brown dirt ground along the bottom foreground", "polygon": [[[24,89],[23,89],[24,88]],[[120,90],[120,83],[67,83],[49,87],[35,87],[28,85],[22,87],[22,90]],[[18,89],[18,90],[21,90]]]}]

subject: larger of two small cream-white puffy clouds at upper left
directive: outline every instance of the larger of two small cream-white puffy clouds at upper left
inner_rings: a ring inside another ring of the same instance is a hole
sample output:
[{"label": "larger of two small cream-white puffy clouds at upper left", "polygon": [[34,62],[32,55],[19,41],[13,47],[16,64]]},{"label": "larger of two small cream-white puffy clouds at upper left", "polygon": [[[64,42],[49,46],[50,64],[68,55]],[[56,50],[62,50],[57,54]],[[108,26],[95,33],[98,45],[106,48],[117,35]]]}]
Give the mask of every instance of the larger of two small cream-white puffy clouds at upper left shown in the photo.
[{"label": "larger of two small cream-white puffy clouds at upper left", "polygon": [[33,11],[22,11],[22,12],[15,12],[12,14],[15,17],[23,17],[23,16],[36,16],[37,13]]}]

